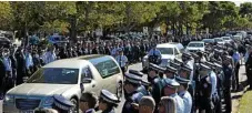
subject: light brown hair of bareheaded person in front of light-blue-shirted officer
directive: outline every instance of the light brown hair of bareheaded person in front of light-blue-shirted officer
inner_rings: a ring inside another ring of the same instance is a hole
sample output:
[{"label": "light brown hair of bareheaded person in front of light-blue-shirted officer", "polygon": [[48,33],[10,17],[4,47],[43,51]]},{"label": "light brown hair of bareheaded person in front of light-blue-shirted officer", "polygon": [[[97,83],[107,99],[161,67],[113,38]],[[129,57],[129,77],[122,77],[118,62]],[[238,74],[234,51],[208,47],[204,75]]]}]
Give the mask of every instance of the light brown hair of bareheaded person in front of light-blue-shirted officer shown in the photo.
[{"label": "light brown hair of bareheaded person in front of light-blue-shirted officer", "polygon": [[177,102],[175,99],[170,96],[161,97],[160,103],[164,106],[165,113],[177,113]]}]

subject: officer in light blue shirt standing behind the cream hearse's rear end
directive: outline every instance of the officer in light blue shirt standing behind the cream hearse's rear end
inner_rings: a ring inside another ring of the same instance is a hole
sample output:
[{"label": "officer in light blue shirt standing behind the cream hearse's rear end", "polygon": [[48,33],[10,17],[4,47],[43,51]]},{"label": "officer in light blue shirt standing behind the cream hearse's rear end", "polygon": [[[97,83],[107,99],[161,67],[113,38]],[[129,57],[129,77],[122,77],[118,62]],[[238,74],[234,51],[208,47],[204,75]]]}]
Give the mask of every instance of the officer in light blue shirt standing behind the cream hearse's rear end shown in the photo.
[{"label": "officer in light blue shirt standing behind the cream hearse's rear end", "polygon": [[128,66],[128,58],[123,54],[122,49],[118,49],[119,55],[117,55],[115,60],[118,61],[122,72],[127,72]]}]

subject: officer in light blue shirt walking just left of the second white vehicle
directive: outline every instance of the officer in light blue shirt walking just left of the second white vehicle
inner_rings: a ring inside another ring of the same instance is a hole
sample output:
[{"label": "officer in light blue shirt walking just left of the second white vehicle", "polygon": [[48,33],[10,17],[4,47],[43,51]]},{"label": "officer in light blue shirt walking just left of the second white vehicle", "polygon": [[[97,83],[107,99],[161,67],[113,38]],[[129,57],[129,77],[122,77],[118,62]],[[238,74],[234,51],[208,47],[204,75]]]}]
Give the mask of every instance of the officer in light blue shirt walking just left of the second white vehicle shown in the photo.
[{"label": "officer in light blue shirt walking just left of the second white vehicle", "polygon": [[157,49],[155,44],[152,44],[152,49],[148,53],[149,61],[154,64],[161,63],[161,52]]}]

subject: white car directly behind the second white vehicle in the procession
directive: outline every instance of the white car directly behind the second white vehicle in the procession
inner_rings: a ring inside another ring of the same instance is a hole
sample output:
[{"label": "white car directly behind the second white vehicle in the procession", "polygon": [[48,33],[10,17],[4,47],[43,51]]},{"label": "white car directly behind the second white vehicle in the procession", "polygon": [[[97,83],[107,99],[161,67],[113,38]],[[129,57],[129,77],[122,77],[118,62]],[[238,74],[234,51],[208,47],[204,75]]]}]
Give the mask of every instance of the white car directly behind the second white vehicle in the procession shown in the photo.
[{"label": "white car directly behind the second white vehicle in the procession", "polygon": [[205,51],[205,44],[203,41],[191,41],[187,45],[185,52],[196,52],[196,51]]}]

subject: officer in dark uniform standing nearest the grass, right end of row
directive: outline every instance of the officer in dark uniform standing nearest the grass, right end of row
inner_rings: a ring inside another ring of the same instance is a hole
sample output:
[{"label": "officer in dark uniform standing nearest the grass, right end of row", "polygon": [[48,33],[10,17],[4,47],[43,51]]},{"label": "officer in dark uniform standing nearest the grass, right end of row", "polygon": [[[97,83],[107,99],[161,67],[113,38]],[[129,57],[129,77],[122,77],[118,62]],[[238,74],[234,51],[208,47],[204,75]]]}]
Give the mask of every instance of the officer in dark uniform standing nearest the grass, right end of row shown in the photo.
[{"label": "officer in dark uniform standing nearest the grass, right end of row", "polygon": [[223,73],[224,73],[224,81],[223,81],[223,96],[225,103],[225,112],[231,113],[232,111],[232,101],[231,101],[231,79],[232,79],[232,58],[225,55],[223,56]]}]

